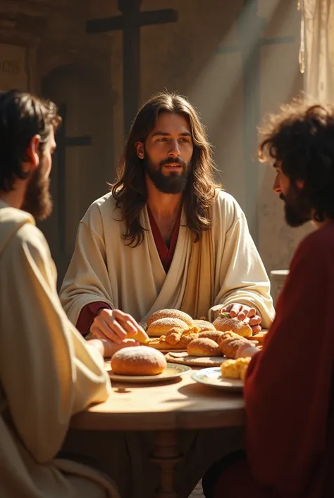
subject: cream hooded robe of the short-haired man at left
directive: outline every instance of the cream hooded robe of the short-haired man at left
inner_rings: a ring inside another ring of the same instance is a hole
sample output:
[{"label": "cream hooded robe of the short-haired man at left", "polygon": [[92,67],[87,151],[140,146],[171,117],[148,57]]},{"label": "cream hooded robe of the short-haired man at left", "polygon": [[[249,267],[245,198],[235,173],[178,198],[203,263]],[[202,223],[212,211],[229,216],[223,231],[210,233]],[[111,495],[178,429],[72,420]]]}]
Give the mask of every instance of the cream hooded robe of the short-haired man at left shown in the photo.
[{"label": "cream hooded robe of the short-haired man at left", "polygon": [[70,417],[104,401],[99,352],[63,312],[33,218],[0,201],[0,497],[118,497],[108,478],[56,460]]}]

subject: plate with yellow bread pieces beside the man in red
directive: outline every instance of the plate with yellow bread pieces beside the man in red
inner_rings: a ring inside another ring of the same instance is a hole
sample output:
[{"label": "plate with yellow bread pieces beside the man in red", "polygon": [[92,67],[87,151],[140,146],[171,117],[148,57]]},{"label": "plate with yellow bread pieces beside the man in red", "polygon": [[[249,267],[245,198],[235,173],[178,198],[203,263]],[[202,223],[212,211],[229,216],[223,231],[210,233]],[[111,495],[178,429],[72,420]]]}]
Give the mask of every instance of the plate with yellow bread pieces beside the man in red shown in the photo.
[{"label": "plate with yellow bread pieces beside the man in red", "polygon": [[220,367],[204,368],[192,373],[192,379],[225,391],[241,392],[247,367],[251,358],[237,358],[237,360],[223,359]]}]

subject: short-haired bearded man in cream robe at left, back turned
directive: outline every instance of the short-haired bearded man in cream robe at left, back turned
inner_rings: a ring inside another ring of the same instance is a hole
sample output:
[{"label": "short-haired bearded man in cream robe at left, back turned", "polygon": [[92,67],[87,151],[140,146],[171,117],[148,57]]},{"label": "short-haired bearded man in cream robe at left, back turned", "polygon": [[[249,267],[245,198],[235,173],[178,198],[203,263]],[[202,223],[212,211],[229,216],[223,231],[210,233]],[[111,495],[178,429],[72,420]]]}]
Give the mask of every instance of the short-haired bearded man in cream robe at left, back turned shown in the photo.
[{"label": "short-haired bearded man in cream robe at left, back turned", "polygon": [[56,270],[35,219],[51,213],[56,106],[0,94],[0,496],[117,498],[113,483],[56,458],[70,418],[111,392],[104,344],[85,341],[56,292]]}]

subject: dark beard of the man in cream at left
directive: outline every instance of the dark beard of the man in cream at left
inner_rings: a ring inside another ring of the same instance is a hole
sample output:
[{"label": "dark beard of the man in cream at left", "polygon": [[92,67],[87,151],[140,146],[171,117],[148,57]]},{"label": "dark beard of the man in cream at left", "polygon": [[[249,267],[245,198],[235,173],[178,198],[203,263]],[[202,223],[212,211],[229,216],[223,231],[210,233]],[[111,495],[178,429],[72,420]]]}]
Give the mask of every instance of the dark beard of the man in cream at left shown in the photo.
[{"label": "dark beard of the man in cream at left", "polygon": [[32,172],[25,191],[22,209],[30,213],[35,220],[45,220],[52,212],[50,179],[45,176],[43,162]]}]

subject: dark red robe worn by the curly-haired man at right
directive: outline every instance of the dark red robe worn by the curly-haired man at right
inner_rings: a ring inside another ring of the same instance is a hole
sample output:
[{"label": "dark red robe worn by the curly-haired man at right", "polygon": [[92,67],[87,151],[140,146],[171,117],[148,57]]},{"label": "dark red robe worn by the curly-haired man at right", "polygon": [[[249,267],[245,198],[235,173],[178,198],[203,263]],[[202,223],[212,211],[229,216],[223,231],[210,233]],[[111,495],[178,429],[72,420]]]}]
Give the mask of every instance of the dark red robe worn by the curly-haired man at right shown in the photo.
[{"label": "dark red robe worn by the curly-haired man at right", "polygon": [[334,496],[334,222],[299,244],[245,379],[245,461],[215,498]]}]

